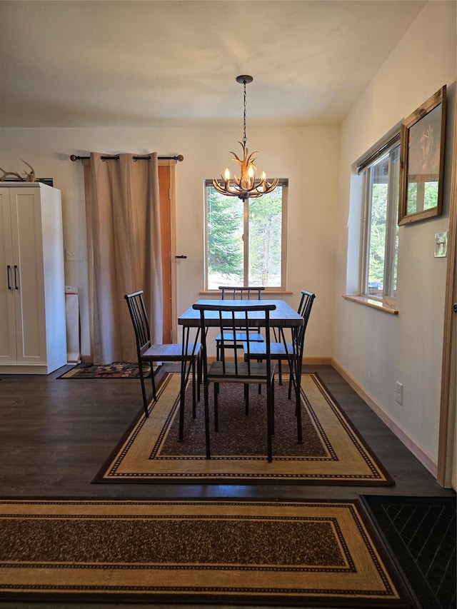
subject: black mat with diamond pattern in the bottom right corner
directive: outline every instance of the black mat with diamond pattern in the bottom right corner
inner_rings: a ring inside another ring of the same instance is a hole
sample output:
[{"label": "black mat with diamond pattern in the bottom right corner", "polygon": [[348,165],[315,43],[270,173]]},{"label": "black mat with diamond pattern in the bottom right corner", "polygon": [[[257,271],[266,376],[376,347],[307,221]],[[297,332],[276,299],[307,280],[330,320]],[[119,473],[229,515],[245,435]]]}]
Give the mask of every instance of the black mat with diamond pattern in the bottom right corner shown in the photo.
[{"label": "black mat with diamond pattern in the bottom right corner", "polygon": [[456,498],[364,495],[418,609],[456,607]]}]

